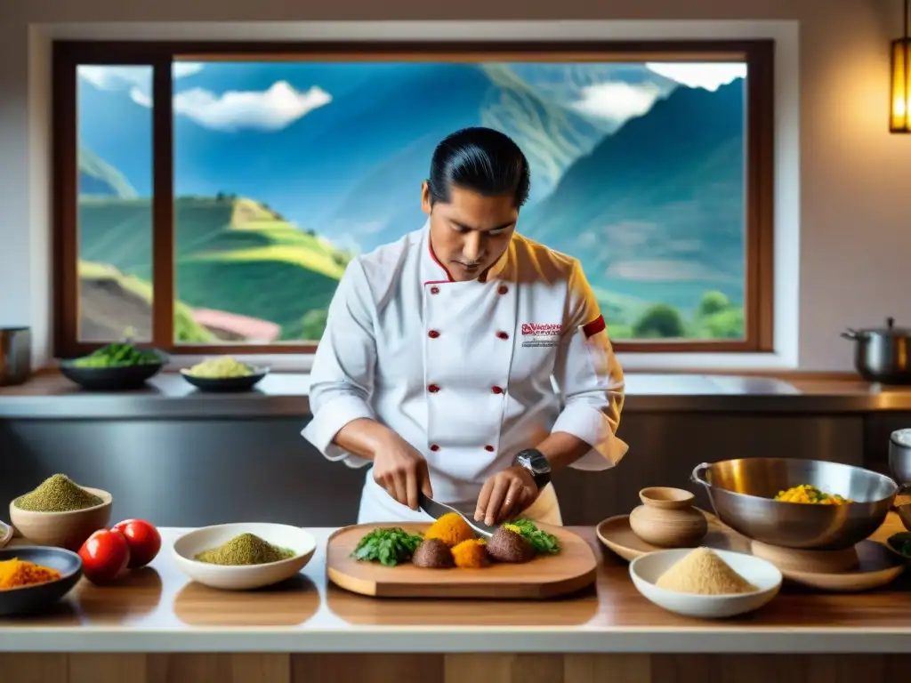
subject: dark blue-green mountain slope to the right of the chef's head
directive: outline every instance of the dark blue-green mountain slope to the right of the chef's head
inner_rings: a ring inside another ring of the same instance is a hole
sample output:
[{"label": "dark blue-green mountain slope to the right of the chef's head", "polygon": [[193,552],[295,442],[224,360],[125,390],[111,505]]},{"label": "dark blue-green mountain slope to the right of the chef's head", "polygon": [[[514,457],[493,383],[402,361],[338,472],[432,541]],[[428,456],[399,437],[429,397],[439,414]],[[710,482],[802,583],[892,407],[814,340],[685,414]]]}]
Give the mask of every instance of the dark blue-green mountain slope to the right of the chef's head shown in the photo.
[{"label": "dark blue-green mountain slope to the right of the chef's head", "polygon": [[605,290],[684,310],[718,290],[739,305],[743,102],[742,79],[676,88],[578,158],[519,229],[578,256]]}]

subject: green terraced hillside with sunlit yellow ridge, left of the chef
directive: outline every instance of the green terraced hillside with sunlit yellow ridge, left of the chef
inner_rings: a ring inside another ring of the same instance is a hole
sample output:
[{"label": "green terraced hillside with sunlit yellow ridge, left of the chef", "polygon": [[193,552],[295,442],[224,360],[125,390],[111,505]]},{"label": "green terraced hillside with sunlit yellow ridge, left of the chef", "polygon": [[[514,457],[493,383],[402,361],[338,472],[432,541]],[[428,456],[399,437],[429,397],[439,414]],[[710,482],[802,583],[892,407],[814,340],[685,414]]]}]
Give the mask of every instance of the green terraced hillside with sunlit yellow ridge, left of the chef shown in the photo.
[{"label": "green terraced hillside with sunlit yellow ridge, left of the chef", "polygon": [[[151,280],[148,199],[84,197],[80,257]],[[176,297],[191,308],[281,325],[281,340],[316,339],[351,256],[251,199],[175,202]],[[316,335],[315,337],[312,335]]]}]

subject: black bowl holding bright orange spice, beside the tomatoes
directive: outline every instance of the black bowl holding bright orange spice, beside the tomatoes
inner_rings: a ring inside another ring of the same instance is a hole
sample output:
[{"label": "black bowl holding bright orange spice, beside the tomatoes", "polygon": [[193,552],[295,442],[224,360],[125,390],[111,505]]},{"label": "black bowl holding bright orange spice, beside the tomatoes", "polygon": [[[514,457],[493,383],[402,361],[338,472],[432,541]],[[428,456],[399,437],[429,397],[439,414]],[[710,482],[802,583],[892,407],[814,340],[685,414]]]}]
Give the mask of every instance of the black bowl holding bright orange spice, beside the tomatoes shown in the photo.
[{"label": "black bowl holding bright orange spice, beside the tomatoes", "polygon": [[23,545],[0,550],[0,561],[14,557],[56,569],[60,572],[60,578],[36,586],[0,589],[0,617],[46,611],[66,596],[82,576],[82,558],[63,548]]}]

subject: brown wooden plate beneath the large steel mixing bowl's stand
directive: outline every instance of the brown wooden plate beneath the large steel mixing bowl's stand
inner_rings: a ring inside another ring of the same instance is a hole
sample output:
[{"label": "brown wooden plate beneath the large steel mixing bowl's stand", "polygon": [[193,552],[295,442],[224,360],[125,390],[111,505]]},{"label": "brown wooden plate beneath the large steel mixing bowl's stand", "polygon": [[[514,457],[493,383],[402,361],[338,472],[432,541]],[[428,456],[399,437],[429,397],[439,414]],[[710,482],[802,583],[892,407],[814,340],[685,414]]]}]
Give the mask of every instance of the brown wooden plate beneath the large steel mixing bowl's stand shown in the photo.
[{"label": "brown wooden plate beneath the large steel mixing bowl's stand", "polygon": [[[895,581],[905,571],[905,561],[885,545],[866,540],[855,545],[857,565],[839,572],[798,571],[789,560],[788,549],[752,542],[752,554],[777,566],[784,578],[794,583],[837,593],[871,590]],[[805,552],[805,551],[804,551]],[[784,558],[782,557],[785,556]]]}]

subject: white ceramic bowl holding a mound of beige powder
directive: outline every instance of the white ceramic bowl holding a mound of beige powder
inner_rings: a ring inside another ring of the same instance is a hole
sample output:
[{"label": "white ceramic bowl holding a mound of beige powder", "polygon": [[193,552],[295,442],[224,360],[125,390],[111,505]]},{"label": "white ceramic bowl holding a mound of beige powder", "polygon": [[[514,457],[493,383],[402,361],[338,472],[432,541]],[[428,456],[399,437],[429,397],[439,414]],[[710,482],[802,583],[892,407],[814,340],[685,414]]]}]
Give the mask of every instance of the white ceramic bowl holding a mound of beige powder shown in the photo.
[{"label": "white ceramic bowl holding a mound of beige powder", "polygon": [[727,596],[699,596],[678,593],[655,586],[659,576],[683,559],[692,548],[660,550],[637,557],[630,562],[630,577],[639,592],[658,607],[685,617],[717,619],[734,617],[763,607],[778,595],[782,573],[771,562],[760,557],[715,550],[731,568],[759,590]]}]

